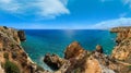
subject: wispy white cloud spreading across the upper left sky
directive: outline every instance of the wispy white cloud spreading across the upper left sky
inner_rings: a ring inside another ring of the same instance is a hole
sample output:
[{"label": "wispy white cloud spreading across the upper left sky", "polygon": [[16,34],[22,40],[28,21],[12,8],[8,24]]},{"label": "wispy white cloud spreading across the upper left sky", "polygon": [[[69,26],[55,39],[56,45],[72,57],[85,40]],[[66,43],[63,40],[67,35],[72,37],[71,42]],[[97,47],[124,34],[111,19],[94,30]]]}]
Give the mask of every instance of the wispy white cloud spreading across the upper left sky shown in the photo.
[{"label": "wispy white cloud spreading across the upper left sky", "polygon": [[56,17],[69,14],[68,0],[0,0],[0,10],[15,15]]}]

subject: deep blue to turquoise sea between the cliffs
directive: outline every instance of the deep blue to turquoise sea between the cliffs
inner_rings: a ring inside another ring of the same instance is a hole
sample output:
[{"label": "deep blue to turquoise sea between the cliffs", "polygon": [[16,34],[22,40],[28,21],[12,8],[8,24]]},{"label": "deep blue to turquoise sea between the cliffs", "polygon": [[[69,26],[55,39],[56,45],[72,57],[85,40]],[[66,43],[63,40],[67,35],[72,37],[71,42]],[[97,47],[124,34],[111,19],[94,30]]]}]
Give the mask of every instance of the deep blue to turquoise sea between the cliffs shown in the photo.
[{"label": "deep blue to turquoise sea between the cliffs", "polygon": [[25,29],[26,41],[23,48],[33,61],[47,69],[43,59],[47,52],[63,57],[64,49],[74,40],[86,50],[94,50],[96,45],[104,47],[106,54],[111,53],[116,34],[98,29]]}]

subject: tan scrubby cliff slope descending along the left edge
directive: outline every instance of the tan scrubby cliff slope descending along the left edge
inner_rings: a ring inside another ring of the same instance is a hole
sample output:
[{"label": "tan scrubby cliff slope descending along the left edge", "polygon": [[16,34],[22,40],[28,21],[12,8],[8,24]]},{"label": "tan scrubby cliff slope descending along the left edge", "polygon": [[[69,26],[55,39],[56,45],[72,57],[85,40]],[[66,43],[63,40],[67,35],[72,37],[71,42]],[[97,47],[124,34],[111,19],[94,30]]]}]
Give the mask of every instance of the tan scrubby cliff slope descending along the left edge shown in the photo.
[{"label": "tan scrubby cliff slope descending along the left edge", "polygon": [[20,73],[44,73],[26,54],[21,46],[21,40],[25,40],[25,35],[22,32],[5,26],[0,27],[0,63],[2,66],[0,73],[2,70],[5,72],[2,64],[7,60],[15,63]]}]

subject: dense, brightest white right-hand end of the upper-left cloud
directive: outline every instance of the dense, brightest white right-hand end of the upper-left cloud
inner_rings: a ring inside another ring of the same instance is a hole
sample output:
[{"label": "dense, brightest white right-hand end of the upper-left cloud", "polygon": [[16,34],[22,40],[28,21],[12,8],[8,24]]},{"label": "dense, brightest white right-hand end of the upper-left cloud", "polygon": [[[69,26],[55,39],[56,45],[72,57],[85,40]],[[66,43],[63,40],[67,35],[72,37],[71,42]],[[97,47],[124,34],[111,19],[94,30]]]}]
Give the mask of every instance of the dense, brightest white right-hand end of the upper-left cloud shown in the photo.
[{"label": "dense, brightest white right-hand end of the upper-left cloud", "polygon": [[40,9],[40,12],[38,12],[38,14],[41,14],[43,16],[55,17],[53,15],[70,13],[69,10],[64,8],[64,4],[59,0],[44,0],[35,3],[34,7],[43,8]]}]

